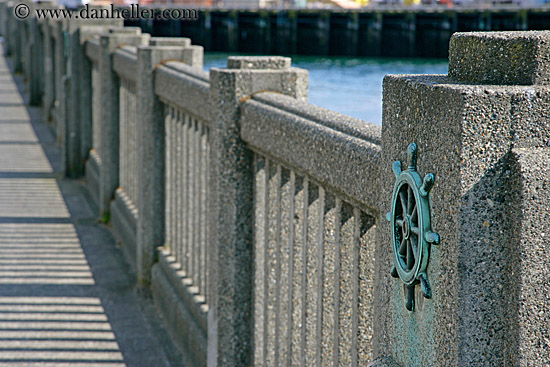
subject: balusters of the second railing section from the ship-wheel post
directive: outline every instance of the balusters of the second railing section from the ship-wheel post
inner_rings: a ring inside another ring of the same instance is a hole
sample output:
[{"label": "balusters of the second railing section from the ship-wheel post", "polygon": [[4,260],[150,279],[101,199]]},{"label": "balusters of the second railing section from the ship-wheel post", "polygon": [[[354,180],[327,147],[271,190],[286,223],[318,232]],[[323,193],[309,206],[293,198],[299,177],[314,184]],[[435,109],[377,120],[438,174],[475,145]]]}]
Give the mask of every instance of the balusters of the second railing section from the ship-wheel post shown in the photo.
[{"label": "balusters of the second railing section from the ship-wheel post", "polygon": [[176,106],[165,108],[165,242],[181,265],[184,281],[207,303],[208,126]]}]

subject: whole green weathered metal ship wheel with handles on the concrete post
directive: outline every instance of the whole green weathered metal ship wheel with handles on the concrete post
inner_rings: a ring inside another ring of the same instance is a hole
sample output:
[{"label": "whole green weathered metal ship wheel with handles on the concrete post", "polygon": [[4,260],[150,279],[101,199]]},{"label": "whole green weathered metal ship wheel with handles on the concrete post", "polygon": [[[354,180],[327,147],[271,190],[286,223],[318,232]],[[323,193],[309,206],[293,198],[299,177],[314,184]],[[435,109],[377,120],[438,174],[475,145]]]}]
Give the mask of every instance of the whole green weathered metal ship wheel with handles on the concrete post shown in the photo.
[{"label": "whole green weathered metal ship wheel with handles on the concrete post", "polygon": [[425,298],[432,297],[427,268],[431,244],[439,244],[439,234],[432,232],[429,193],[435,176],[428,173],[424,180],[416,171],[417,147],[407,149],[408,168],[393,162],[395,174],[391,212],[386,216],[391,223],[394,265],[391,275],[399,277],[407,288],[405,307],[414,311],[414,288],[420,284]]}]

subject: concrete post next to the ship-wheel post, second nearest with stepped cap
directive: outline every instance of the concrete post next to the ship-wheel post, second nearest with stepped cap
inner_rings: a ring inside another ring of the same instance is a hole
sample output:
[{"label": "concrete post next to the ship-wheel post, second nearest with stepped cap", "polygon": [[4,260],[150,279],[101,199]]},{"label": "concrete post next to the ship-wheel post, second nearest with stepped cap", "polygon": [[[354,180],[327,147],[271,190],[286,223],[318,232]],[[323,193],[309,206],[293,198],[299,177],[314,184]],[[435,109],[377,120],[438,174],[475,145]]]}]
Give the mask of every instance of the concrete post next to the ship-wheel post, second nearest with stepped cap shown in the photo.
[{"label": "concrete post next to the ship-wheel post, second nearest with stepped cap", "polygon": [[208,366],[252,363],[252,153],[239,137],[243,98],[270,90],[307,99],[307,71],[284,57],[230,57],[210,70],[211,192]]}]

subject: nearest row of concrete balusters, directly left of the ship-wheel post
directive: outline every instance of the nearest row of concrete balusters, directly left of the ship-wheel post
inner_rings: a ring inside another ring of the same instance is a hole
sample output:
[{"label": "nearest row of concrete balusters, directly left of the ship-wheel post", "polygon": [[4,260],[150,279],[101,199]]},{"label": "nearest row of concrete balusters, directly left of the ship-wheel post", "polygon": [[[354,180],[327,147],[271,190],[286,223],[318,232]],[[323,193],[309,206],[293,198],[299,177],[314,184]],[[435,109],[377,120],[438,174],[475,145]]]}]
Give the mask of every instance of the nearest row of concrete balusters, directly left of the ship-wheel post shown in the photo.
[{"label": "nearest row of concrete balusters, directly left of the ship-wheel post", "polygon": [[255,365],[366,365],[374,219],[258,154],[255,172]]}]

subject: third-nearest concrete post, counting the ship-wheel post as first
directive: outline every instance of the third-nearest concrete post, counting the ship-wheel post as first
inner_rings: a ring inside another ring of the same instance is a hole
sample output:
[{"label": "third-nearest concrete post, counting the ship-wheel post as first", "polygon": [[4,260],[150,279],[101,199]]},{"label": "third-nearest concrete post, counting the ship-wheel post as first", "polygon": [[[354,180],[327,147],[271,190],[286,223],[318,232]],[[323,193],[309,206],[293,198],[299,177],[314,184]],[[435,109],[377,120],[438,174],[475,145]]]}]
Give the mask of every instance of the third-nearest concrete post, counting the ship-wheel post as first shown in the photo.
[{"label": "third-nearest concrete post, counting the ship-wheel post as first", "polygon": [[154,70],[163,60],[182,60],[187,38],[150,41],[138,48],[138,203],[136,268],[140,286],[151,283],[155,249],[164,244],[165,129],[163,105],[154,90]]}]

